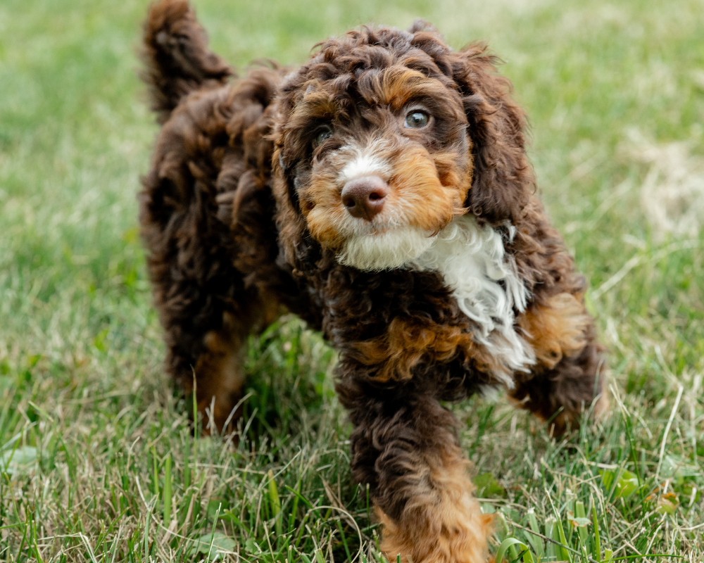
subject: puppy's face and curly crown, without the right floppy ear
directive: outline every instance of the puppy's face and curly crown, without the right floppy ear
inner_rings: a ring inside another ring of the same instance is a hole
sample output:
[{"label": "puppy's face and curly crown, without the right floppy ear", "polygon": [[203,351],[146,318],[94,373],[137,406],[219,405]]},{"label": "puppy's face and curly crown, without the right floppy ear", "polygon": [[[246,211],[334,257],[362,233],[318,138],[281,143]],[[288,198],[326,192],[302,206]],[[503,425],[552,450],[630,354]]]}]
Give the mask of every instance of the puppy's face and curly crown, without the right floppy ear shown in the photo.
[{"label": "puppy's face and curly crown, without the right floppy ear", "polygon": [[458,54],[434,32],[364,30],[287,78],[275,165],[298,222],[339,262],[401,267],[467,212],[467,110],[483,100],[453,80]]}]

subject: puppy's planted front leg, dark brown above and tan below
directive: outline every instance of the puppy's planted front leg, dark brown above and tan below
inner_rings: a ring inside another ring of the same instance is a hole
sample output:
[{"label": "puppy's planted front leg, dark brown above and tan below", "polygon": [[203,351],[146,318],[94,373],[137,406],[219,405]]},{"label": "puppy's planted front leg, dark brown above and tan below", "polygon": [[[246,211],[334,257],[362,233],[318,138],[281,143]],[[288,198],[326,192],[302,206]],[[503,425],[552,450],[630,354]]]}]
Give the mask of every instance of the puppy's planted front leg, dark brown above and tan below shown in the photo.
[{"label": "puppy's planted front leg, dark brown above and tan below", "polygon": [[356,426],[353,477],[370,483],[382,551],[404,563],[484,563],[491,517],[472,495],[457,420],[412,387],[382,390],[353,378],[338,386]]}]

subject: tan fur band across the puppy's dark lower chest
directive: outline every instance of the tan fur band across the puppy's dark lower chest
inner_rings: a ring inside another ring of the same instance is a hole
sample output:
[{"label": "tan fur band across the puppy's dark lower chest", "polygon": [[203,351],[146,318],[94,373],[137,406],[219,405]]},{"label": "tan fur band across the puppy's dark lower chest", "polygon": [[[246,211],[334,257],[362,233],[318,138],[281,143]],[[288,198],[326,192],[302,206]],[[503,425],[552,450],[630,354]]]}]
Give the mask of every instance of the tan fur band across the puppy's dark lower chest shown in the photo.
[{"label": "tan fur band across the puppy's dark lower chest", "polygon": [[462,327],[418,322],[396,317],[386,333],[376,339],[356,343],[351,353],[354,360],[368,366],[379,366],[377,381],[405,381],[421,360],[446,362],[456,357],[472,360],[484,373],[501,371],[501,366],[483,346]]}]

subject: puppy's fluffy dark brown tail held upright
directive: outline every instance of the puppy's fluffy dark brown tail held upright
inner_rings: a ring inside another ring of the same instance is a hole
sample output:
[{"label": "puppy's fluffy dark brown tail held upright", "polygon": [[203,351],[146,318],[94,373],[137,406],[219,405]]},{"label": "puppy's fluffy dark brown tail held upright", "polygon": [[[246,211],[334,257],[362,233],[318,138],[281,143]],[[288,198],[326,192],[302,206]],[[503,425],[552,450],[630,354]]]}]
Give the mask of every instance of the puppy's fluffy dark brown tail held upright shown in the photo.
[{"label": "puppy's fluffy dark brown tail held upright", "polygon": [[141,77],[161,123],[190,91],[225,84],[234,73],[208,51],[206,32],[187,0],[159,0],[151,5],[144,23],[142,60],[146,68]]}]

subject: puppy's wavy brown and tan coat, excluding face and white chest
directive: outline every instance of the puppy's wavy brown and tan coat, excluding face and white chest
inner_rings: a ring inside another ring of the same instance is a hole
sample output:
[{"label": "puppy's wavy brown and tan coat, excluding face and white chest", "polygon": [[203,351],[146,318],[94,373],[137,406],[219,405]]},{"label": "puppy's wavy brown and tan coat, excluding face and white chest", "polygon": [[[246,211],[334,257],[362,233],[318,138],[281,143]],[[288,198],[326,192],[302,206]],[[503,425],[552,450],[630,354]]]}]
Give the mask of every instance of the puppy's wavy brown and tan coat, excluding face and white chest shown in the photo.
[{"label": "puppy's wavy brown and tan coat, excluding face and white chest", "polygon": [[184,0],[152,6],[144,45],[143,78],[163,127],[140,219],[168,371],[186,393],[195,374],[199,409],[222,429],[238,414],[246,337],[284,310],[300,315],[339,350],[353,478],[370,484],[389,559],[483,561],[491,526],[472,498],[457,421],[441,402],[497,384],[496,359],[438,272],[363,272],[311,236],[301,197],[315,116],[294,110],[314,81],[334,101],[329,111],[352,112],[363,72],[398,61],[461,104],[459,125],[443,132],[468,134],[459,205],[480,224],[515,227],[505,251],[531,296],[516,323],[536,364],[513,374],[508,393],[559,432],[601,396],[601,348],[584,279],[534,196],[524,113],[496,60],[482,44],[452,51],[417,23],[364,27],[323,42],[301,68],[255,68],[230,80]]}]

